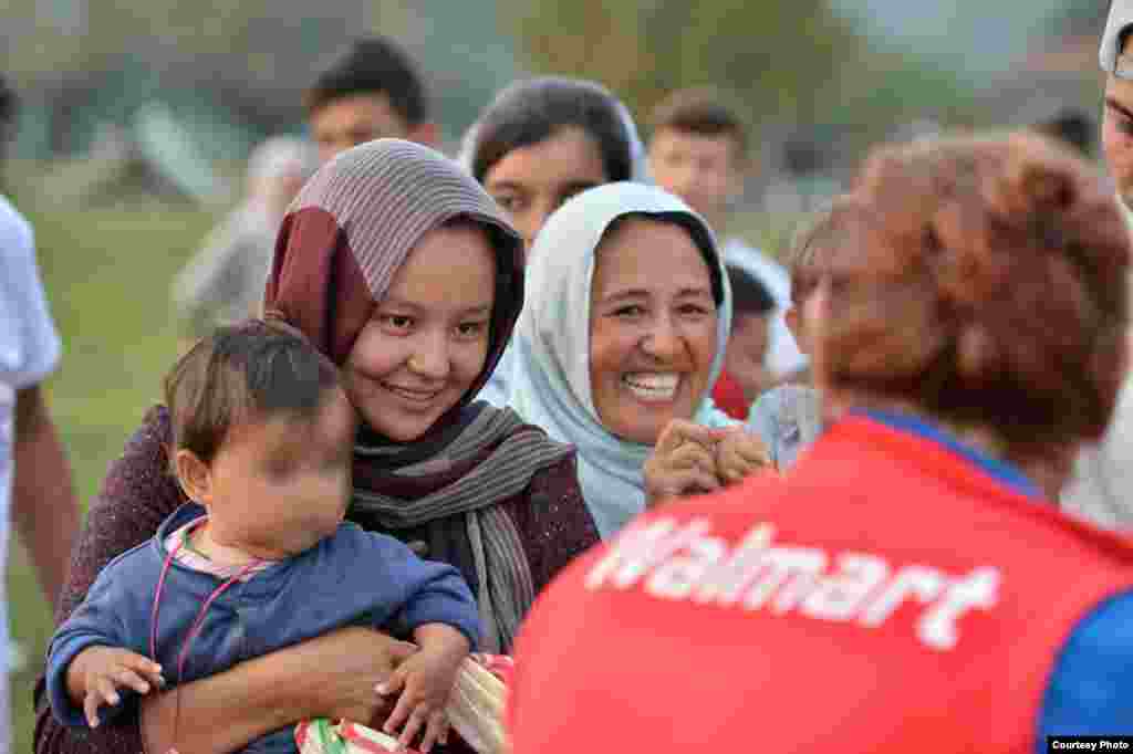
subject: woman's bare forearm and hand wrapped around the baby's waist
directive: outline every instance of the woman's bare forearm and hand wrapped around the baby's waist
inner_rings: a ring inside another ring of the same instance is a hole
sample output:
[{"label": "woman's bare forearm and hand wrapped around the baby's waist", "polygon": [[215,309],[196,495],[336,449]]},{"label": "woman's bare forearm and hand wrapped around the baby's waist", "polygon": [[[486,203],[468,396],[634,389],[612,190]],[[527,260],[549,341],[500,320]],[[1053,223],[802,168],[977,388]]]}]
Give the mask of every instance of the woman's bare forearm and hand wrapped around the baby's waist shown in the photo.
[{"label": "woman's bare forearm and hand wrapped around the baby's waist", "polygon": [[309,718],[380,729],[390,708],[375,686],[416,651],[370,628],[341,628],[151,695],[142,703],[144,751],[222,754]]}]

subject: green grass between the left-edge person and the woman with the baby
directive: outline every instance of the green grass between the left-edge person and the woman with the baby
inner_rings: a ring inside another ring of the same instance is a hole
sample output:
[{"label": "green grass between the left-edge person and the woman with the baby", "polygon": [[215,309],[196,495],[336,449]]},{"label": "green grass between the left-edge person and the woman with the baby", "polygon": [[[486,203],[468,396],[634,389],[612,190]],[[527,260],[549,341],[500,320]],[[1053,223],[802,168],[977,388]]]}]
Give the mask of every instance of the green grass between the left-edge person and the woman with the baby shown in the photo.
[{"label": "green grass between the left-edge person and the woman with the baby", "polygon": [[[85,507],[160,395],[178,348],[170,281],[214,217],[157,204],[97,211],[18,205],[35,225],[40,272],[63,340],[49,401]],[[12,751],[29,752],[32,688],[52,624],[18,545],[8,567],[8,600],[12,633],[29,658],[11,678]]]}]

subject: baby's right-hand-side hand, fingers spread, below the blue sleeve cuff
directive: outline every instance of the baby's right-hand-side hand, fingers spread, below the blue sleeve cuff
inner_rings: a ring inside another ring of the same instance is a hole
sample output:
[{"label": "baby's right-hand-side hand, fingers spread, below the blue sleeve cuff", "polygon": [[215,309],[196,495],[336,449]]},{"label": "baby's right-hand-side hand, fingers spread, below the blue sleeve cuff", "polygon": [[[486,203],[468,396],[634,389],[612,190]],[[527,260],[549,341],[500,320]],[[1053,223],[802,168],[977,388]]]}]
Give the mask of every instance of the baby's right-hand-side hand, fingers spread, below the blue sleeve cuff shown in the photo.
[{"label": "baby's right-hand-side hand, fingers spread, below the blue sleeve cuff", "polygon": [[449,718],[444,708],[457,683],[460,665],[471,648],[462,633],[444,624],[420,626],[414,637],[420,650],[380,684],[377,693],[401,694],[383,730],[394,735],[403,725],[398,737],[403,747],[424,730],[419,748],[427,754],[434,744],[449,740]]}]

